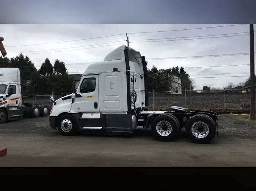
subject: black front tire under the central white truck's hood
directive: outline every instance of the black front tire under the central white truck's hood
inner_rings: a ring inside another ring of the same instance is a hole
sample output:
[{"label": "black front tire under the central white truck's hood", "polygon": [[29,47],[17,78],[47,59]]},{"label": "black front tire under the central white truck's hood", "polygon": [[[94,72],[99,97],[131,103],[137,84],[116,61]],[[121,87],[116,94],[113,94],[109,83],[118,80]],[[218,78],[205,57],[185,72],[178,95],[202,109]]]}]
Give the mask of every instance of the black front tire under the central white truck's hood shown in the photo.
[{"label": "black front tire under the central white truck's hood", "polygon": [[[62,124],[64,125],[63,128],[61,128],[61,122],[63,122]],[[73,116],[69,114],[65,114],[59,118],[57,124],[58,124],[58,130],[63,136],[74,136],[77,134],[77,131],[78,131],[77,122]],[[70,128],[70,125],[71,125],[71,129],[69,130],[68,128]],[[67,129],[67,131],[64,131],[64,129]]]}]

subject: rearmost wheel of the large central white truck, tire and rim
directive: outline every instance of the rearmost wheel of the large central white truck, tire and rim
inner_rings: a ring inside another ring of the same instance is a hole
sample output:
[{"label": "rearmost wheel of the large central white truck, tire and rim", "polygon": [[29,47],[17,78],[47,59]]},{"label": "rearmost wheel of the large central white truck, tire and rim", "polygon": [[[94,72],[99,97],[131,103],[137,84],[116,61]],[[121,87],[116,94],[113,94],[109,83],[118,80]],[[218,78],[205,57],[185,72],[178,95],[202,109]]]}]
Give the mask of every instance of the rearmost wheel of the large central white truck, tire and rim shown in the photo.
[{"label": "rearmost wheel of the large central white truck, tire and rim", "polygon": [[186,124],[188,138],[196,143],[210,143],[216,133],[214,120],[205,114],[191,117]]}]

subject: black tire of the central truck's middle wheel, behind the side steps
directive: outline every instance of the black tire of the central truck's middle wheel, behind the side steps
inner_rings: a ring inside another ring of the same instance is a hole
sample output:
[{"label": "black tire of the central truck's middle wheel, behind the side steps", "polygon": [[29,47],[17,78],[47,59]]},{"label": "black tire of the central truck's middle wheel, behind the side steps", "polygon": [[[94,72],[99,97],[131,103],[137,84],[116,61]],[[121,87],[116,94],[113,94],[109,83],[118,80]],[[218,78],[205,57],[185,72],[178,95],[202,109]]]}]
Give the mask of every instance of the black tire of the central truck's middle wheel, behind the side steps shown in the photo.
[{"label": "black tire of the central truck's middle wheel, behind the side steps", "polygon": [[[161,129],[157,129],[157,125],[159,122],[163,122],[163,126],[167,127],[168,125],[171,125],[171,131],[168,131],[167,136],[164,134],[160,135],[160,133],[165,133],[164,131],[161,131]],[[167,122],[167,123],[166,123]],[[168,124],[169,123],[169,124]],[[159,131],[159,132],[158,132]],[[172,115],[168,114],[161,114],[160,116],[155,117],[155,119],[152,122],[151,125],[151,132],[155,139],[160,141],[172,141],[177,137],[177,134],[179,132],[179,124],[177,123],[176,119]]]}]

